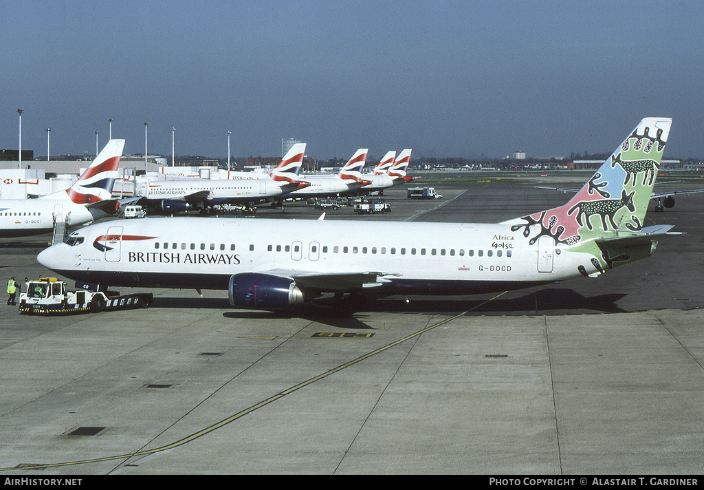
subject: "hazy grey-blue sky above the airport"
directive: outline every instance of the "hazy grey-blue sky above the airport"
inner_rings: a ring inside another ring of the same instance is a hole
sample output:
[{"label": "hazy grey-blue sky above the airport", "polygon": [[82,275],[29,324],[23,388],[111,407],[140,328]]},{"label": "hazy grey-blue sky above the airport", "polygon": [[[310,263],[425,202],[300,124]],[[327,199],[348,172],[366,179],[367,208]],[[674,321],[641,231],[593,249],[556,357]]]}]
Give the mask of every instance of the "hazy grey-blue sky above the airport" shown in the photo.
[{"label": "hazy grey-blue sky above the airport", "polygon": [[704,2],[0,0],[0,148],[316,159],[611,152],[674,119],[704,157]]}]

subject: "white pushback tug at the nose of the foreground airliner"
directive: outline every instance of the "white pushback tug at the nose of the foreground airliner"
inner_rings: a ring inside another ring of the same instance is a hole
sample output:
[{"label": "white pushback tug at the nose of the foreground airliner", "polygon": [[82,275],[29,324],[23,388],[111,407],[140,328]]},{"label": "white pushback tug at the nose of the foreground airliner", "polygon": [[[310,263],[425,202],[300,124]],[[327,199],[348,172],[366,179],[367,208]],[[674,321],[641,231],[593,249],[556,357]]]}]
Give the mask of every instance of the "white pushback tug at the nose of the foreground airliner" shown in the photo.
[{"label": "white pushback tug at the nose of the foreground airliner", "polygon": [[[85,285],[86,288],[91,286]],[[111,294],[111,293],[108,293]],[[108,295],[99,290],[69,291],[64,281],[54,277],[27,281],[25,292],[20,294],[20,313],[68,314],[127,310],[147,307],[153,302],[151,293]]]}]

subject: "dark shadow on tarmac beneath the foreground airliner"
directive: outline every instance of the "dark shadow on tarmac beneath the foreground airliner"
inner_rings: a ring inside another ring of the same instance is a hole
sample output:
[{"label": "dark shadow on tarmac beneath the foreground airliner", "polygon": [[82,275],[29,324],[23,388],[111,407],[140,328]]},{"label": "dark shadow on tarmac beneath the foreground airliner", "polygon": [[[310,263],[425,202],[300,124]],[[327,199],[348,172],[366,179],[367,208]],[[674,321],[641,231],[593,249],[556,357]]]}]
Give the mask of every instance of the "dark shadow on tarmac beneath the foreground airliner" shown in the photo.
[{"label": "dark shadow on tarmac beneath the foreground airliner", "polygon": [[320,298],[313,304],[303,305],[287,312],[267,312],[263,310],[232,310],[227,298],[154,298],[151,307],[156,308],[201,308],[231,310],[223,313],[226,318],[268,319],[303,318],[318,321],[342,329],[370,329],[364,319],[374,312],[429,313],[429,314],[470,314],[484,315],[536,315],[536,314],[594,314],[625,313],[616,302],[626,296],[622,293],[584,296],[572,289],[546,289],[528,293],[516,298],[469,298],[466,296],[440,297],[389,297],[368,299],[353,311],[341,311],[334,299]]}]

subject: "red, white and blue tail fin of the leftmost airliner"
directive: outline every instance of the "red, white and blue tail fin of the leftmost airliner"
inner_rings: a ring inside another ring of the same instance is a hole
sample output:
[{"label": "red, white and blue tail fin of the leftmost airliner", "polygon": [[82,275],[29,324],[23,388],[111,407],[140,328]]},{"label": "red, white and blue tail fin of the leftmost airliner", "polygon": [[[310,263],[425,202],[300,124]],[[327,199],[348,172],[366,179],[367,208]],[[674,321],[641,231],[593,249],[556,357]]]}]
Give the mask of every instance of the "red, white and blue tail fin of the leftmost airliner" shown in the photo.
[{"label": "red, white and blue tail fin of the leftmost airliner", "polygon": [[108,141],[78,180],[61,193],[65,192],[75,204],[93,204],[111,199],[124,147],[125,140]]}]

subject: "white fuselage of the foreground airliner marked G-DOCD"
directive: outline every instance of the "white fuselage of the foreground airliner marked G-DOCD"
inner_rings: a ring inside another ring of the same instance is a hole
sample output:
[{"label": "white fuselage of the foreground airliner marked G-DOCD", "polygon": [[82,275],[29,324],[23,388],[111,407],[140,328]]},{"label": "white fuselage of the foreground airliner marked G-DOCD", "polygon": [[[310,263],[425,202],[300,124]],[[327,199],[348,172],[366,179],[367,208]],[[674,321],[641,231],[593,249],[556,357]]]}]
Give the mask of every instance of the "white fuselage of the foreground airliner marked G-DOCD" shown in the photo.
[{"label": "white fuselage of the foreground airliner marked G-DOCD", "polygon": [[[547,237],[546,237],[547,238]],[[590,273],[591,255],[507,224],[154,218],[82,228],[39,262],[109,286],[227,289],[232,274],[364,274],[370,293],[470,294]]]}]

